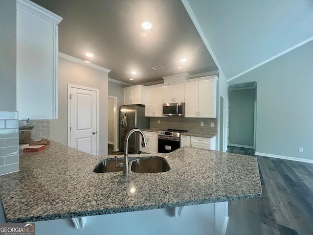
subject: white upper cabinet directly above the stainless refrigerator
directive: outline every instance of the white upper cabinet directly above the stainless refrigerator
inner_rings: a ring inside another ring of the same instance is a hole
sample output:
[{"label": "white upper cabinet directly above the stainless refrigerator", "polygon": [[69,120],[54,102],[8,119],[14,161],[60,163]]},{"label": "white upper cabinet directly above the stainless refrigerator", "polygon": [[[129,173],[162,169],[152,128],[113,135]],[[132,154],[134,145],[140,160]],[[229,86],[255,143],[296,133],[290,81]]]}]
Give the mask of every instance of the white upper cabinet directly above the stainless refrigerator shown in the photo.
[{"label": "white upper cabinet directly above the stainless refrigerator", "polygon": [[124,105],[127,104],[145,104],[145,86],[137,85],[123,88]]}]

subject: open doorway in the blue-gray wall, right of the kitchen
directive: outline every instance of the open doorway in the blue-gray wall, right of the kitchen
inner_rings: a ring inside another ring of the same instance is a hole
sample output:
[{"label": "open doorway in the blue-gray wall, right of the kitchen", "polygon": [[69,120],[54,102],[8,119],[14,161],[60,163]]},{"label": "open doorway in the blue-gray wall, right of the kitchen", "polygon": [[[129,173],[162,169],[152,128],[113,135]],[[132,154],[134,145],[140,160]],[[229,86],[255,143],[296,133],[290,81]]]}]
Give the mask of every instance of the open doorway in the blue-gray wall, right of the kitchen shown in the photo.
[{"label": "open doorway in the blue-gray wall, right of the kitchen", "polygon": [[256,82],[228,88],[228,146],[255,149]]}]

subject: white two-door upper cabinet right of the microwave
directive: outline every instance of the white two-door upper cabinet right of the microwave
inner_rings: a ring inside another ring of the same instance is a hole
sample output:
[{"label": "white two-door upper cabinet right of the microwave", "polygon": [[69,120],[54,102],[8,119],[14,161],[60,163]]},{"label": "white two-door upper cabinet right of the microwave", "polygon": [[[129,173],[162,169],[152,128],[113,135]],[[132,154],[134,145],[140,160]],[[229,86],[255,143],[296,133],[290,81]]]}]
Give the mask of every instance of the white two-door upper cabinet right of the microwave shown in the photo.
[{"label": "white two-door upper cabinet right of the microwave", "polygon": [[216,76],[185,82],[185,118],[215,118]]}]

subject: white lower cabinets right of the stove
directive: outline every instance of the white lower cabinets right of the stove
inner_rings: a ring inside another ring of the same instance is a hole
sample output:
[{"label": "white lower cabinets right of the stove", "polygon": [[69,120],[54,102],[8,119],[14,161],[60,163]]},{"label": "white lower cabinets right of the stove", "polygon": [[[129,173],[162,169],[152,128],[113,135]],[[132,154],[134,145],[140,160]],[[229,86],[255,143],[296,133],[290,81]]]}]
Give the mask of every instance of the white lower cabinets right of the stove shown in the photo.
[{"label": "white lower cabinets right of the stove", "polygon": [[215,150],[215,137],[203,138],[196,136],[181,136],[180,147],[183,146]]}]

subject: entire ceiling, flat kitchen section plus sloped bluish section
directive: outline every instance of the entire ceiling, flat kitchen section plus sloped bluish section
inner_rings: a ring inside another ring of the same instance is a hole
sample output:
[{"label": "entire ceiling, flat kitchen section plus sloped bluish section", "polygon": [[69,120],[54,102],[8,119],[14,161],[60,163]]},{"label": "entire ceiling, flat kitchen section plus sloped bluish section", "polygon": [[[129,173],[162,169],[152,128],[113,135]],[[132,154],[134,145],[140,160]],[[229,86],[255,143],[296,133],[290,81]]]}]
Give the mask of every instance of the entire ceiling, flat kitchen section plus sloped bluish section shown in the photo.
[{"label": "entire ceiling, flat kitchen section plus sloped bluish section", "polygon": [[232,80],[313,39],[313,0],[33,1],[63,17],[59,51],[91,52],[110,78],[134,85],[218,69]]}]

